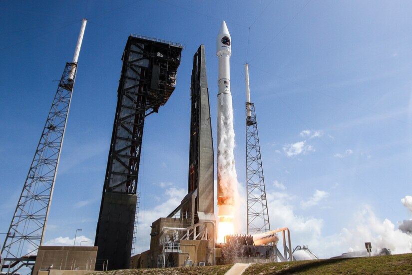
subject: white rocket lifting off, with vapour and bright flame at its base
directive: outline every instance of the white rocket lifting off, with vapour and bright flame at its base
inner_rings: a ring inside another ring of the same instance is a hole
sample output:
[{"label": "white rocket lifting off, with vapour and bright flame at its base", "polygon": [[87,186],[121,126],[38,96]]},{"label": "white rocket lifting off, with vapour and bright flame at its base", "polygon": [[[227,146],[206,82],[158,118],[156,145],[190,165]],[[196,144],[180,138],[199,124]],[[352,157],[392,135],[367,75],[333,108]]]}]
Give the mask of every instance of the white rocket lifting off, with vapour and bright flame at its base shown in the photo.
[{"label": "white rocket lifting off, with vapour and bright flame at its base", "polygon": [[217,205],[218,241],[234,233],[233,217],[237,175],[233,149],[235,131],[233,129],[232,94],[230,93],[230,63],[232,54],[231,37],[226,22],[223,21],[217,35],[217,56],[219,58],[219,91],[217,95]]}]

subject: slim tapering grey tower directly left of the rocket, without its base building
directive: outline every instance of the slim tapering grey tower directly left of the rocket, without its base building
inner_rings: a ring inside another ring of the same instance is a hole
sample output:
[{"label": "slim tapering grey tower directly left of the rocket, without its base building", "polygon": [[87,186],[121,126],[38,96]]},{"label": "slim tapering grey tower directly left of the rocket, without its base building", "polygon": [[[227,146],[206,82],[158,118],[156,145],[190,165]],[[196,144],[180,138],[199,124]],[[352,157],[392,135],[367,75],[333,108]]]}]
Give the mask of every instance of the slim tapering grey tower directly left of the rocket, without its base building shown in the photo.
[{"label": "slim tapering grey tower directly left of the rocket, without its base building", "polygon": [[206,76],[205,46],[193,56],[190,86],[190,147],[188,195],[168,217],[178,211],[192,213],[191,225],[199,220],[215,220],[213,209],[213,139],[210,121],[209,89]]}]

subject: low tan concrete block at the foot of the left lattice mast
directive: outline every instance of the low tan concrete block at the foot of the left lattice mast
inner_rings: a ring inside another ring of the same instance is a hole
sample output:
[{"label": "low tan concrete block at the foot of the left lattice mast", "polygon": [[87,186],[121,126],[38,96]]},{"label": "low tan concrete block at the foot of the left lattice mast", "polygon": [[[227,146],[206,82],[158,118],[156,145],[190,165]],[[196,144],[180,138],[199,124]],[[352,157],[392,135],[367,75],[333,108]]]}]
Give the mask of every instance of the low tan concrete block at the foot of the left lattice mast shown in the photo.
[{"label": "low tan concrete block at the foot of the left lattice mast", "polygon": [[[32,274],[37,274],[40,270],[94,271],[96,255],[97,246],[40,246]],[[100,270],[102,268],[103,266],[100,266]]]}]

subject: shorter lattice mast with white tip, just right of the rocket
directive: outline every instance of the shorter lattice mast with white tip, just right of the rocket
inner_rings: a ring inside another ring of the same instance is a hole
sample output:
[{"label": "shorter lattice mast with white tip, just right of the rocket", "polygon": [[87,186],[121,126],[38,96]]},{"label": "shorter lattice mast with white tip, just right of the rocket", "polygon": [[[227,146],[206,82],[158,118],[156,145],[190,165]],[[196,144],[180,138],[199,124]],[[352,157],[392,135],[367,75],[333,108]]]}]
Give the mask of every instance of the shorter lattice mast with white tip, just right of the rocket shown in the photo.
[{"label": "shorter lattice mast with white tip, just right of the rocket", "polygon": [[255,234],[270,231],[270,223],[255,104],[250,101],[248,64],[245,64],[245,74],[247,232]]}]

